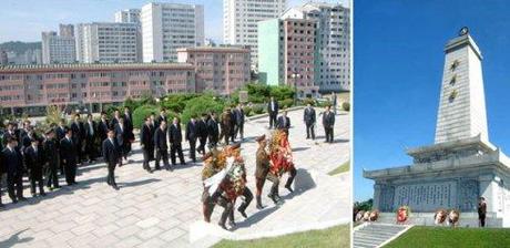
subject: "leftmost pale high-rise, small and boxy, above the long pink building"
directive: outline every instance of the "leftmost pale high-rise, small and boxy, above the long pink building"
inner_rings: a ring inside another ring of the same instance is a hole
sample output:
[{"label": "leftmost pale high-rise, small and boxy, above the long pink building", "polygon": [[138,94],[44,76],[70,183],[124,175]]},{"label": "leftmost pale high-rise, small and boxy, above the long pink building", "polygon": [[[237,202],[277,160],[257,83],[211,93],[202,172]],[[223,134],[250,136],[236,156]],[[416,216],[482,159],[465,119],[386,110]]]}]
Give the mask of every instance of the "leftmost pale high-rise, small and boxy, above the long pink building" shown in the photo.
[{"label": "leftmost pale high-rise, small and boxy, above the long pink building", "polygon": [[70,33],[42,32],[41,41],[42,63],[73,63],[76,60],[74,37]]}]

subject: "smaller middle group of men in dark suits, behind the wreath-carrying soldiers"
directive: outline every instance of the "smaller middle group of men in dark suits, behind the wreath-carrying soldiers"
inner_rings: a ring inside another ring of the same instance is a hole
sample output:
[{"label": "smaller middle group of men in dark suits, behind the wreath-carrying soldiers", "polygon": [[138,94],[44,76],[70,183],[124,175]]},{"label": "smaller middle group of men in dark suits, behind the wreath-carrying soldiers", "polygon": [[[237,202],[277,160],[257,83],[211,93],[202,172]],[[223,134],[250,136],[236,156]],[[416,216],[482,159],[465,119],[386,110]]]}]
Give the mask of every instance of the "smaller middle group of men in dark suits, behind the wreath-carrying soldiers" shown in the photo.
[{"label": "smaller middle group of men in dark suits, behind the wreath-carrying soldiers", "polygon": [[[155,159],[155,169],[161,169],[160,163],[163,162],[165,169],[172,170],[176,165],[176,158],[181,165],[185,165],[182,142],[187,141],[190,144],[190,159],[196,162],[196,153],[204,155],[205,147],[215,147],[224,138],[225,144],[234,142],[237,135],[244,138],[245,114],[243,105],[237,105],[234,110],[225,108],[222,113],[222,120],[218,120],[216,113],[210,112],[202,114],[201,118],[192,116],[185,125],[184,136],[181,130],[181,122],[177,117],[169,124],[166,111],[161,110],[160,115],[151,113],[145,117],[145,122],[140,128],[140,141],[143,151],[143,167],[152,172],[149,163]],[[170,144],[170,147],[169,147]],[[169,148],[172,166],[169,163]],[[155,153],[155,157],[154,157]]]}]

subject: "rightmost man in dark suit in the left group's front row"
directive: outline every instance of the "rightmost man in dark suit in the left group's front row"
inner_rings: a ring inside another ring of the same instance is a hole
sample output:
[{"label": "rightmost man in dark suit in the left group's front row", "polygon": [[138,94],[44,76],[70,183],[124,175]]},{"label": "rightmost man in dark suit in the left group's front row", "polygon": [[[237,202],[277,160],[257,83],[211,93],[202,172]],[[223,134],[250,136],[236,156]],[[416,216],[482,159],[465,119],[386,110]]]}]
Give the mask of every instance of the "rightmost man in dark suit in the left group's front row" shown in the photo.
[{"label": "rightmost man in dark suit in the left group's front row", "polygon": [[78,144],[72,138],[71,128],[65,130],[65,136],[60,141],[60,158],[64,165],[65,182],[68,185],[76,184]]}]

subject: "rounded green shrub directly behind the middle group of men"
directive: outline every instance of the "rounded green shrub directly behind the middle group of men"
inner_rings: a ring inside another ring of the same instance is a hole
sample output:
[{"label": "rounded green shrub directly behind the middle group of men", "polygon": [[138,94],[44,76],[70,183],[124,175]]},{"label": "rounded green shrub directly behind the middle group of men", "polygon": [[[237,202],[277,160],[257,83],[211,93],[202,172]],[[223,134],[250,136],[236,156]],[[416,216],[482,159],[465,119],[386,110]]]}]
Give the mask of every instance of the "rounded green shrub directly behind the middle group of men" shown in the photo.
[{"label": "rounded green shrub directly behind the middle group of men", "polygon": [[216,114],[221,114],[223,107],[224,101],[210,94],[192,99],[186,102],[186,106],[181,115],[181,123],[187,123],[192,115],[200,117],[203,113],[208,113],[211,111],[216,112]]}]

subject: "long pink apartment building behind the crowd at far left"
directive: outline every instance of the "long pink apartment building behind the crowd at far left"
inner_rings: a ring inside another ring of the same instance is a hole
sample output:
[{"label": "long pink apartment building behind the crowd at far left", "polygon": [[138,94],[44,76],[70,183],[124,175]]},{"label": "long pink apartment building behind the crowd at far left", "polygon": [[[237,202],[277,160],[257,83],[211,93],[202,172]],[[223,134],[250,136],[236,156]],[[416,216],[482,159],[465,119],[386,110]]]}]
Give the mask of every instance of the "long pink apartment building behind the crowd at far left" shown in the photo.
[{"label": "long pink apartment building behind the crowd at far left", "polygon": [[0,66],[3,113],[43,113],[48,105],[98,112],[103,103],[121,103],[128,96],[192,92],[195,68],[186,63]]}]

